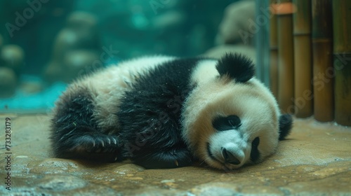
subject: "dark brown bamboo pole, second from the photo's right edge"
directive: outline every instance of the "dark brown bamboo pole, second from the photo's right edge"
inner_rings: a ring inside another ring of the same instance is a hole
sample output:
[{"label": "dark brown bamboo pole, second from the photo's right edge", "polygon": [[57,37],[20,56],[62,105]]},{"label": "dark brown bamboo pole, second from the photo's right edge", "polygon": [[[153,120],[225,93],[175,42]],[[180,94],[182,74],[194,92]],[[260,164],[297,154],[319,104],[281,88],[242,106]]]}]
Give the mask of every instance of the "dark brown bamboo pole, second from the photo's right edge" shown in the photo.
[{"label": "dark brown bamboo pole, second from the photo's right edge", "polygon": [[312,0],[312,54],[314,118],[333,120],[333,77],[326,73],[333,68],[331,0]]}]

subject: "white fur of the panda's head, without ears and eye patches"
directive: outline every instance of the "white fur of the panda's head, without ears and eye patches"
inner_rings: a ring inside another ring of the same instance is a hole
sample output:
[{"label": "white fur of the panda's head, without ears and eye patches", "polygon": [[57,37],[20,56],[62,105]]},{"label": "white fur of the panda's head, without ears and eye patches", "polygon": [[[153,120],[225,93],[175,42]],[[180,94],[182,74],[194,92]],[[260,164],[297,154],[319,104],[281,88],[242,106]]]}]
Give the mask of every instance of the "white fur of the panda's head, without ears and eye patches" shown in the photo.
[{"label": "white fur of the panda's head, without ears and eye patches", "polygon": [[[250,162],[251,142],[260,137],[260,160],[274,153],[279,137],[279,109],[272,93],[256,78],[246,83],[234,83],[219,78],[216,62],[202,62],[195,69],[190,93],[183,111],[183,139],[194,155],[211,167],[234,169]],[[206,76],[202,74],[206,73]],[[201,76],[202,75],[202,76]],[[237,130],[218,132],[212,126],[216,116],[237,115],[241,126]],[[222,147],[241,160],[239,165],[223,164],[209,157],[207,143],[217,160],[224,162]]]}]

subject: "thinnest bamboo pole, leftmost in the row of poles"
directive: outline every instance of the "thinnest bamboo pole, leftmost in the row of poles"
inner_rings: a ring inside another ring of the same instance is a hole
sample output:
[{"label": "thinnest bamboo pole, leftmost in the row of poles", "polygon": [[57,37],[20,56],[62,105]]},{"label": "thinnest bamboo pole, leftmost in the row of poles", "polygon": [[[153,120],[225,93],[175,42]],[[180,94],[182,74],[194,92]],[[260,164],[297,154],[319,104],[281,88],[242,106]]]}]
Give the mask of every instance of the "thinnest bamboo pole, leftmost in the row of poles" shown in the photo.
[{"label": "thinnest bamboo pole, leftmost in the row of poles", "polygon": [[277,0],[270,0],[272,17],[270,18],[270,89],[275,97],[278,95],[278,41],[277,15],[274,6]]}]

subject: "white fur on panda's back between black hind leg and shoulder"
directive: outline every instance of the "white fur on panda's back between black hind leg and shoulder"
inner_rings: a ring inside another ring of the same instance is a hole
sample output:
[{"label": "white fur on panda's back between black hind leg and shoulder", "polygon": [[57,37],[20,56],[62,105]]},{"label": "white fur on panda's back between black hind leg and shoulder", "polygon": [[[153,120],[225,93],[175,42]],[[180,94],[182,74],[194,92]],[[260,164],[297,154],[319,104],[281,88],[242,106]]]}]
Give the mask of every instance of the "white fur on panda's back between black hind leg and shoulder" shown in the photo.
[{"label": "white fur on panda's back between black hind leg and shoulder", "polygon": [[94,120],[102,132],[116,131],[118,128],[117,110],[125,92],[133,90],[140,76],[174,59],[167,56],[140,57],[112,65],[83,78],[78,83],[88,87],[95,105]]}]

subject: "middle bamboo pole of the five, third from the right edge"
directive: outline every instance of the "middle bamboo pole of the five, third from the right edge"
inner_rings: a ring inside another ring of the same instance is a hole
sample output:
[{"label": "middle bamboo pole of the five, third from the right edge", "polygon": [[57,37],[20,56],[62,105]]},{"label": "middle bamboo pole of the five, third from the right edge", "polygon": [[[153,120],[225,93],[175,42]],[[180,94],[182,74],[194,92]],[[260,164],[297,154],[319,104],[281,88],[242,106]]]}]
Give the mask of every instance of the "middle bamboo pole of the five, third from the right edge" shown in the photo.
[{"label": "middle bamboo pole of the five, third from the right edge", "polygon": [[312,115],[311,1],[293,0],[295,116]]}]

